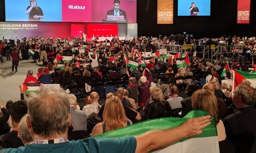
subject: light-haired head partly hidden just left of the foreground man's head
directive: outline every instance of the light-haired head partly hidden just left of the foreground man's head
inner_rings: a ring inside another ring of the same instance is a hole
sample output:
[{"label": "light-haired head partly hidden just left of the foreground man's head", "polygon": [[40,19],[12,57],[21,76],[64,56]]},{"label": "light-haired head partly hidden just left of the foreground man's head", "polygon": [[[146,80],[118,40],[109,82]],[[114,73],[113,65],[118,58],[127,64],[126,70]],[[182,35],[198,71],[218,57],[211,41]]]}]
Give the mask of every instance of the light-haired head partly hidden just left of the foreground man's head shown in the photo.
[{"label": "light-haired head partly hidden just left of the foreground man's head", "polygon": [[30,135],[29,128],[27,128],[27,116],[28,114],[25,114],[21,118],[21,121],[19,122],[18,131],[18,136],[19,138],[21,138],[21,141],[23,142],[24,146],[33,142],[33,138]]}]

